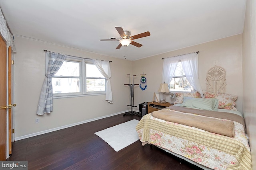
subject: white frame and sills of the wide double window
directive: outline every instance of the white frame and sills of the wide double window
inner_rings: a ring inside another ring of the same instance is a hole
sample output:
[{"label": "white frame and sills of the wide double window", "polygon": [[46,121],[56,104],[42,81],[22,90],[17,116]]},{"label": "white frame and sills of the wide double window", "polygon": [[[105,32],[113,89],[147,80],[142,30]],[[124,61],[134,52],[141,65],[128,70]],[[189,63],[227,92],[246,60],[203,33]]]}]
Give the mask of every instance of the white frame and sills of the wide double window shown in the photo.
[{"label": "white frame and sills of the wide double window", "polygon": [[[48,57],[46,57],[46,73],[47,73],[47,69],[48,69]],[[69,61],[69,62],[80,62],[80,76],[77,77],[72,77],[72,78],[80,78],[80,92],[76,92],[76,93],[57,93],[57,94],[53,94],[53,99],[56,98],[73,98],[73,97],[81,97],[81,96],[96,96],[96,95],[105,95],[106,94],[106,86],[105,86],[105,90],[104,91],[97,91],[97,92],[86,92],[86,64],[93,64],[92,59],[85,59],[85,58],[81,58],[81,57],[74,57],[74,56],[69,56],[67,55],[66,59],[64,61]],[[55,76],[52,76],[55,77]],[[63,77],[66,78],[67,76],[56,76],[56,77]],[[69,76],[68,76],[69,77]],[[90,77],[88,77],[90,78]],[[94,77],[95,78],[95,77]],[[99,79],[99,78],[96,78]],[[106,78],[102,78],[105,79],[105,84],[106,84]]]}]

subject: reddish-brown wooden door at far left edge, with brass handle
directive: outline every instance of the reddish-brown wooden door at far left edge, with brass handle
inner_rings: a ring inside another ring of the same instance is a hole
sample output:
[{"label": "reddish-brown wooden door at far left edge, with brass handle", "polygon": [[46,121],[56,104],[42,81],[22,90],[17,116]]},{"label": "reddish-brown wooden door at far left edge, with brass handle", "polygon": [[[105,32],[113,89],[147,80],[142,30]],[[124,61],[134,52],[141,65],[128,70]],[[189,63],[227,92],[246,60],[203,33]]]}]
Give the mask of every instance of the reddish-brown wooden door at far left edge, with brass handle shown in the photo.
[{"label": "reddish-brown wooden door at far left edge, with brass handle", "polygon": [[[0,107],[6,106],[7,86],[6,86],[6,43],[0,36]],[[7,141],[7,111],[0,109],[0,160],[6,160],[6,141]]]}]

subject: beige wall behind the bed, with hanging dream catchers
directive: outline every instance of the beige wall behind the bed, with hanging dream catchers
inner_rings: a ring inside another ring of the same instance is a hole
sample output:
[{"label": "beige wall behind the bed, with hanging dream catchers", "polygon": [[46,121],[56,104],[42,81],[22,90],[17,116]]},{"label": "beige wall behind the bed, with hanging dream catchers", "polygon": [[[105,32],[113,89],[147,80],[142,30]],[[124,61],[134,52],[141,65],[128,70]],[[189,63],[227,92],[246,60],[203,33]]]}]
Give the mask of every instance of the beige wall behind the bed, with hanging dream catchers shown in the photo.
[{"label": "beige wall behind the bed, with hanging dream catchers", "polygon": [[[226,93],[238,96],[236,107],[242,112],[242,34],[135,61],[133,74],[138,76],[136,82],[140,82],[140,74],[146,74],[147,78],[146,90],[135,88],[135,101],[149,102],[152,101],[154,92],[159,94],[158,88],[162,81],[162,58],[196,51],[200,52],[198,53],[198,76],[202,89],[206,90],[206,73],[215,66],[216,61],[217,66],[226,70]],[[170,102],[170,98],[167,98],[167,101]]]}]

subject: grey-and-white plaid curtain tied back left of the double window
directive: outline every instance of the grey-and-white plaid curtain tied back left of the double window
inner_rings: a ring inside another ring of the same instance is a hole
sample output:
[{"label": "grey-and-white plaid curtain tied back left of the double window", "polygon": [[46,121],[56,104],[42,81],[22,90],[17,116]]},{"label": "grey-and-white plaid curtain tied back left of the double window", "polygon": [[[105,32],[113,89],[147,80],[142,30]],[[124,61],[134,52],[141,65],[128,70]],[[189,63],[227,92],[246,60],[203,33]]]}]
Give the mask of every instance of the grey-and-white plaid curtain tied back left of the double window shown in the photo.
[{"label": "grey-and-white plaid curtain tied back left of the double window", "polygon": [[[50,113],[53,110],[52,106],[52,76],[58,72],[66,55],[54,52],[45,53],[46,57],[49,56],[48,69],[45,74],[44,83],[37,106],[36,114],[43,115]],[[47,56],[48,55],[48,56]]]}]

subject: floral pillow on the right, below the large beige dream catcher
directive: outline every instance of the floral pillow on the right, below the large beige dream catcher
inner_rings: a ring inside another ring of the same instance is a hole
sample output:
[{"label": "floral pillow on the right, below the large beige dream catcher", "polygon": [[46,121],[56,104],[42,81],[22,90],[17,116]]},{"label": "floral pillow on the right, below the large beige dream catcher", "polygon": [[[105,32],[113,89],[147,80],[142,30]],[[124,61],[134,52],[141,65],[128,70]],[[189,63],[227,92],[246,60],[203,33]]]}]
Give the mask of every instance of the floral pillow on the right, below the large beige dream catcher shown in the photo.
[{"label": "floral pillow on the right, below the large beige dream catcher", "polygon": [[228,110],[237,110],[236,109],[236,95],[225,94],[225,93],[211,93],[204,92],[204,98],[216,98],[219,100],[218,109],[228,109]]}]

